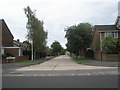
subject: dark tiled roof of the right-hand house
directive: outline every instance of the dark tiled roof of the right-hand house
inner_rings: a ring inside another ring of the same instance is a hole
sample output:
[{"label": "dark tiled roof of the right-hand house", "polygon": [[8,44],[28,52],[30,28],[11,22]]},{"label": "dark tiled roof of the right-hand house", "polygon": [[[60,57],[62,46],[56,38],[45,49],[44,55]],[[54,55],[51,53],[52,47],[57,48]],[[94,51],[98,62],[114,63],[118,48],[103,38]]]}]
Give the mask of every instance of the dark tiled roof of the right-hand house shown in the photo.
[{"label": "dark tiled roof of the right-hand house", "polygon": [[95,30],[104,31],[104,30],[120,30],[116,25],[95,25]]}]

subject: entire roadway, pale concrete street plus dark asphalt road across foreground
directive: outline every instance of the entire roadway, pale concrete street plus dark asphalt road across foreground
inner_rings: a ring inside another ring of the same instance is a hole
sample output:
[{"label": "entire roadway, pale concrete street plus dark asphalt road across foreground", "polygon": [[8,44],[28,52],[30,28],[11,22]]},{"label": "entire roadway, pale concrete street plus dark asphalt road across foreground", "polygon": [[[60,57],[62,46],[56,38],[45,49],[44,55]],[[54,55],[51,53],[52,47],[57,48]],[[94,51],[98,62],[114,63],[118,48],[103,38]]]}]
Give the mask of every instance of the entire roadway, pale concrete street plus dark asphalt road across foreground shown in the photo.
[{"label": "entire roadway, pale concrete street plus dark asphalt road across foreground", "polygon": [[118,68],[82,65],[60,56],[3,71],[3,88],[118,88]]}]

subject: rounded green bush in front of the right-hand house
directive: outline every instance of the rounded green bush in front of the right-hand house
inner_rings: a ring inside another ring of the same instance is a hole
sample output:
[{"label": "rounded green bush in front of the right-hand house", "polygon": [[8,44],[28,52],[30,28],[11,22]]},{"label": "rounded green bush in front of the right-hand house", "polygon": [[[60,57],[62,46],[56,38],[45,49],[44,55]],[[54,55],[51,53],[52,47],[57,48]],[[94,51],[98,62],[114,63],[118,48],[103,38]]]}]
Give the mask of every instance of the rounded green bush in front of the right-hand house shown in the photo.
[{"label": "rounded green bush in front of the right-hand house", "polygon": [[102,48],[107,54],[116,54],[120,51],[120,42],[112,36],[107,36],[102,41]]}]

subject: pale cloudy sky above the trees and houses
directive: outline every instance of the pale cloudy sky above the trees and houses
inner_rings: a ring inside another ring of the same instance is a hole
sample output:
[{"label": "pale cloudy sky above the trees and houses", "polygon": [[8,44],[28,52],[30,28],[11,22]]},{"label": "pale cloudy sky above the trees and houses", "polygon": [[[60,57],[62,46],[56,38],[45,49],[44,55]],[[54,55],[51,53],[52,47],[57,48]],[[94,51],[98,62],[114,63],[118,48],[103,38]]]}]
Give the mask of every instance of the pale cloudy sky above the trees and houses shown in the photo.
[{"label": "pale cloudy sky above the trees and houses", "polygon": [[27,40],[27,18],[24,8],[36,10],[36,17],[44,21],[48,32],[47,46],[55,40],[66,48],[65,29],[89,22],[92,25],[114,24],[118,16],[119,0],[1,0],[0,19],[4,19],[14,40]]}]

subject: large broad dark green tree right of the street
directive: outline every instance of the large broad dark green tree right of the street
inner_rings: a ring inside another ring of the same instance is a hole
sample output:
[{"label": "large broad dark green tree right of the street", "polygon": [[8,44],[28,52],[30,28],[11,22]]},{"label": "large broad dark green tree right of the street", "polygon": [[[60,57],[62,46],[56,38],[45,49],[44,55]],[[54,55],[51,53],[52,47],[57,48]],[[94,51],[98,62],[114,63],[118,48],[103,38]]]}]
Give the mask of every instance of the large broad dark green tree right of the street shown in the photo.
[{"label": "large broad dark green tree right of the street", "polygon": [[67,39],[67,50],[75,55],[79,55],[88,48],[92,41],[92,25],[80,23],[65,29]]}]

